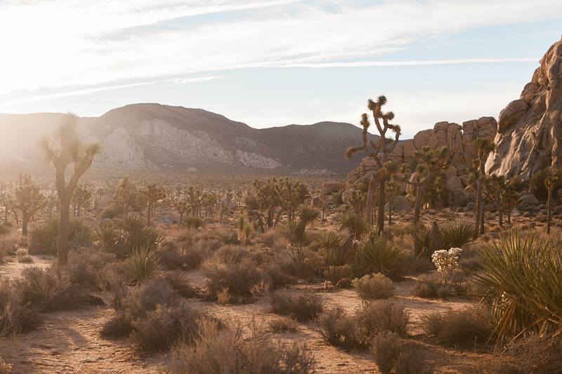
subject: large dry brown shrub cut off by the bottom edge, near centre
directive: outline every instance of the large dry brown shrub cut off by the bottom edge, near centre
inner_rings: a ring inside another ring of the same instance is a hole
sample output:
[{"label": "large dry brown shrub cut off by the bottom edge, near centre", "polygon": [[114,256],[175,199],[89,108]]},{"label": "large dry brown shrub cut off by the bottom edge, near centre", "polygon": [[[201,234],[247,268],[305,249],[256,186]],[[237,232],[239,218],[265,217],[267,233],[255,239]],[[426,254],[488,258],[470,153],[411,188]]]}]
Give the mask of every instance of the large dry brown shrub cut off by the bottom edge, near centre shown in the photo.
[{"label": "large dry brown shrub cut off by the bottom edge, near centre", "polygon": [[315,360],[306,345],[282,345],[257,328],[242,338],[242,328],[221,330],[202,323],[195,343],[181,344],[171,353],[167,374],[309,374]]}]

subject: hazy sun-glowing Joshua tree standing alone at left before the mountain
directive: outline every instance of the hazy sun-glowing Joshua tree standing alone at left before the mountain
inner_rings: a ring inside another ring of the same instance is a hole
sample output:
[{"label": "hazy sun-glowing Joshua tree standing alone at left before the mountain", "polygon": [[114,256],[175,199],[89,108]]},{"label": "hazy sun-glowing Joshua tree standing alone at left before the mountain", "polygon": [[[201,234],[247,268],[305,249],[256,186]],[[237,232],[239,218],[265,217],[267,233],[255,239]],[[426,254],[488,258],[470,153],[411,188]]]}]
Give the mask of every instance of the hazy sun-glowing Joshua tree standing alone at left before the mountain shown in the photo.
[{"label": "hazy sun-glowing Joshua tree standing alone at left before the mountain", "polygon": [[[55,166],[55,184],[60,206],[60,223],[58,237],[58,263],[68,262],[68,225],[70,220],[70,202],[79,178],[90,168],[96,154],[102,152],[99,142],[84,145],[77,131],[79,117],[73,113],[63,114],[55,128],[54,138],[44,135],[39,138],[39,147],[43,151],[43,162]],[[55,145],[60,144],[60,147]],[[72,175],[66,182],[65,171],[73,164]]]}]

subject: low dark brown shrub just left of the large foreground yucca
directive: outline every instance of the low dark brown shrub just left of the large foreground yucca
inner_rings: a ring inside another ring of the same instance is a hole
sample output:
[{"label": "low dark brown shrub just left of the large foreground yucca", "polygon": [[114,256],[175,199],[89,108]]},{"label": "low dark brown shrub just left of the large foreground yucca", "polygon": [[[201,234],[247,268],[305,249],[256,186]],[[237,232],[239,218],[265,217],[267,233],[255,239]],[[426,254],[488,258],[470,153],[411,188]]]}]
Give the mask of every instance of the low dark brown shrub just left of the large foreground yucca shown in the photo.
[{"label": "low dark brown shrub just left of the large foreground yucca", "polygon": [[488,309],[470,307],[430,312],[421,317],[421,324],[443,345],[483,345],[494,330]]}]

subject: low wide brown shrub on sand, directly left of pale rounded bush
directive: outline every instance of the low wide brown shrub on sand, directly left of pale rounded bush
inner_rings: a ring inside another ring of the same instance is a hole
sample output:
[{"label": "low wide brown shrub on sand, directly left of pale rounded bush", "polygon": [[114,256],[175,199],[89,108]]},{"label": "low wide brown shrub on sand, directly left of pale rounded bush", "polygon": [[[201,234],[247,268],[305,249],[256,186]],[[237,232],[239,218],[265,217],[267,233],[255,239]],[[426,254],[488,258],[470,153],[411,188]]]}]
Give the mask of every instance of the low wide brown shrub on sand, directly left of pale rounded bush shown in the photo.
[{"label": "low wide brown shrub on sand, directly left of pale rounded bush", "polygon": [[269,305],[275,314],[289,315],[298,321],[315,319],[324,310],[322,296],[310,292],[289,295],[281,290],[269,297]]}]

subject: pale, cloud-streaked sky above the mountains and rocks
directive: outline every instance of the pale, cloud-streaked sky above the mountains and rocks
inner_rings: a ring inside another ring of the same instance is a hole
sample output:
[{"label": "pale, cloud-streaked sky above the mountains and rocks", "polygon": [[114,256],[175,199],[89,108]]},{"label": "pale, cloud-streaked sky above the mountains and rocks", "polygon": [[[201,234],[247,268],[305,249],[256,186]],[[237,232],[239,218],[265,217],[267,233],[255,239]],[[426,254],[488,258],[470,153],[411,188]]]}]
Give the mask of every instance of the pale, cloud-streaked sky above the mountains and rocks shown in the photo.
[{"label": "pale, cloud-streaked sky above the mountains and rocks", "polygon": [[1,113],[158,102],[358,125],[386,95],[412,138],[497,119],[561,39],[562,1],[2,0],[0,35]]}]

